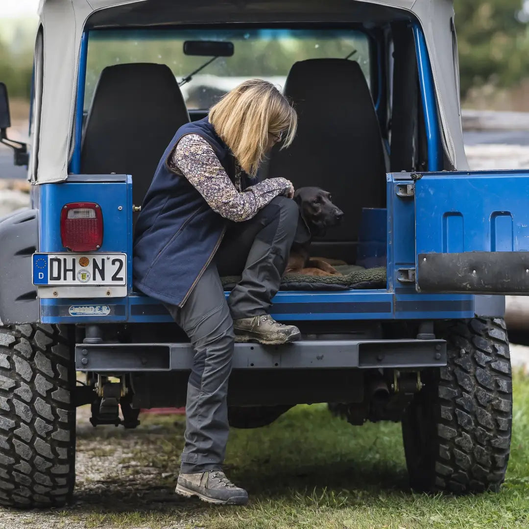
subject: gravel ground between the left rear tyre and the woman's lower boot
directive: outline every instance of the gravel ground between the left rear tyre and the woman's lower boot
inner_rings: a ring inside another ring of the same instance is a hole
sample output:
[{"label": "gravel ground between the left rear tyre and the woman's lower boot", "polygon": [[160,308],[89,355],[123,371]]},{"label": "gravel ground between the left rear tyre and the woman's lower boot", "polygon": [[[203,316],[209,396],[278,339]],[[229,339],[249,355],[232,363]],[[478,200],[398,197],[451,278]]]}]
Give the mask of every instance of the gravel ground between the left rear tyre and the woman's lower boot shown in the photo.
[{"label": "gravel ground between the left rear tyre and the woman's lower boot", "polygon": [[[77,409],[77,481],[74,503],[64,509],[16,511],[0,507],[0,528],[56,529],[97,527],[182,529],[191,516],[172,516],[186,505],[174,492],[183,418],[141,416],[135,430],[98,426],[88,421],[89,406]],[[176,422],[175,422],[176,420]],[[196,503],[188,503],[190,510]],[[200,504],[202,505],[202,504]],[[187,506],[187,505],[186,505]],[[156,512],[157,522],[136,523],[138,514]],[[160,525],[160,515],[167,522]]]}]

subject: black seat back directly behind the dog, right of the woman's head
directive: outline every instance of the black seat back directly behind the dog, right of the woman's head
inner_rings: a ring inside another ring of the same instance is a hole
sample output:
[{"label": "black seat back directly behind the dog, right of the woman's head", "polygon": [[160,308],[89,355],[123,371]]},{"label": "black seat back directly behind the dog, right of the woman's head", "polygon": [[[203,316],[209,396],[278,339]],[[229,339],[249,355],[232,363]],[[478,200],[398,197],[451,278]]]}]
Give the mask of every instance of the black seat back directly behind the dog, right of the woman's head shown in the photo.
[{"label": "black seat back directly behind the dog, right of the woman's head", "polygon": [[268,177],[330,191],[345,215],[325,238],[335,242],[329,257],[353,262],[362,207],[386,202],[382,138],[366,78],[357,62],[309,59],[290,69],[284,92],[297,110],[298,132],[288,149],[272,150]]}]

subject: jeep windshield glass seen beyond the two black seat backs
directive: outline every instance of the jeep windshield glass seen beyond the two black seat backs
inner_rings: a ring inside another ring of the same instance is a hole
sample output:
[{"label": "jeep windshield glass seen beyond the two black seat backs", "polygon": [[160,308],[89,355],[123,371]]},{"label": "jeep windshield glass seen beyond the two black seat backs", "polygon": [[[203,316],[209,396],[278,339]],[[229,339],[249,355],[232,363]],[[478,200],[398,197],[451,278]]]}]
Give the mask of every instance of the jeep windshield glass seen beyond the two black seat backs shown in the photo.
[{"label": "jeep windshield glass seen beyond the two black seat backs", "polygon": [[211,57],[184,54],[187,40],[233,42],[232,57],[218,57],[181,87],[189,110],[206,110],[250,78],[271,81],[281,89],[296,61],[349,58],[357,61],[371,85],[370,46],[365,33],[343,29],[186,29],[92,30],[88,41],[85,110],[92,102],[101,71],[130,62],[156,62],[171,68],[178,81]]}]

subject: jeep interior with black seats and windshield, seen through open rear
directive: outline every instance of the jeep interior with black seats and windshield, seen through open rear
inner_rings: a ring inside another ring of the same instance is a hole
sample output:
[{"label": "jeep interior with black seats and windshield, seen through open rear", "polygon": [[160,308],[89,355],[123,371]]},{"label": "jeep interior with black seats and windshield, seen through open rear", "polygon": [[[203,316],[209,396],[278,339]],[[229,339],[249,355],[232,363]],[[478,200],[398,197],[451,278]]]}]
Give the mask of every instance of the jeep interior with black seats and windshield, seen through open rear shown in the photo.
[{"label": "jeep interior with black seats and windshield, seen through open rear", "polygon": [[[189,54],[189,41],[229,42],[233,54]],[[427,163],[408,22],[90,30],[81,174],[131,174],[140,205],[178,127],[253,77],[280,87],[299,117],[293,144],[276,146],[259,178],[321,187],[344,212],[311,253],[385,267],[386,173]],[[377,276],[362,288],[385,282]]]}]

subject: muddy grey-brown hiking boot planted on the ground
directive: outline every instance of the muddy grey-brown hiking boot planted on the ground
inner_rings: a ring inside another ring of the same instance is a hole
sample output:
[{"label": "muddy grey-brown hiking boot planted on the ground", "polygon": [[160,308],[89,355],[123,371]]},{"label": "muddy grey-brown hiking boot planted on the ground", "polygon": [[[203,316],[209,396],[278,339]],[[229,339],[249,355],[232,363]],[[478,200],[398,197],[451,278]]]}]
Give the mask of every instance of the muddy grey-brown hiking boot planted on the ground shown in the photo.
[{"label": "muddy grey-brown hiking boot planted on the ground", "polygon": [[246,505],[248,503],[248,492],[233,485],[221,470],[180,474],[176,493],[186,498],[198,496],[203,501],[217,505]]}]

